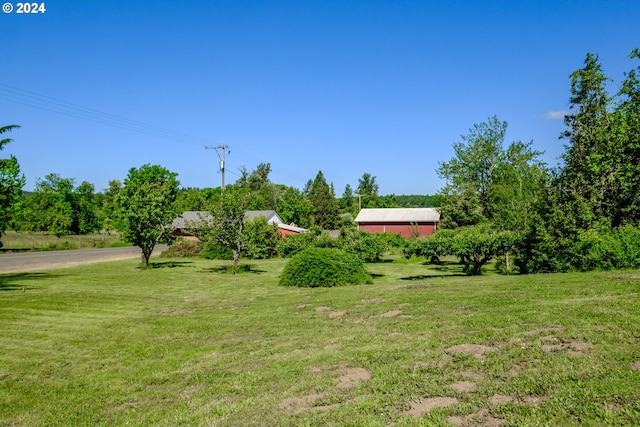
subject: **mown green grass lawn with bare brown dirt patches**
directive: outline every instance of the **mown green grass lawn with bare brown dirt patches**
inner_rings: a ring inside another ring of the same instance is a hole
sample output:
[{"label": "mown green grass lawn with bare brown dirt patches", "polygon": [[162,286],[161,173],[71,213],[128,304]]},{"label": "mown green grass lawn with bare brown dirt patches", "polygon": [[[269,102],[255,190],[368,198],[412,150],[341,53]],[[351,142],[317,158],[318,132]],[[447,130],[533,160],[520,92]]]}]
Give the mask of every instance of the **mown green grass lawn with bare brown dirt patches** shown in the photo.
[{"label": "mown green grass lawn with bare brown dirt patches", "polygon": [[640,271],[152,262],[0,275],[0,425],[640,425]]}]

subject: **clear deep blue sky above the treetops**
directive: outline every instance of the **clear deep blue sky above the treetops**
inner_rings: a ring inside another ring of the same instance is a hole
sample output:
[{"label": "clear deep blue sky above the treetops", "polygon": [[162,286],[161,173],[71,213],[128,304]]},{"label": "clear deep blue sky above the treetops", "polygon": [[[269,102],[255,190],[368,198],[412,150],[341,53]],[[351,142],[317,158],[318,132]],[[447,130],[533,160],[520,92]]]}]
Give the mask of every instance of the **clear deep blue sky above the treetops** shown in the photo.
[{"label": "clear deep blue sky above the treetops", "polygon": [[554,165],[569,75],[597,53],[615,93],[638,64],[638,1],[45,1],[0,13],[0,125],[33,189],[58,173],[96,191],[160,164],[185,187],[271,163],[340,196],[434,194],[439,161],[496,115],[506,143]]}]

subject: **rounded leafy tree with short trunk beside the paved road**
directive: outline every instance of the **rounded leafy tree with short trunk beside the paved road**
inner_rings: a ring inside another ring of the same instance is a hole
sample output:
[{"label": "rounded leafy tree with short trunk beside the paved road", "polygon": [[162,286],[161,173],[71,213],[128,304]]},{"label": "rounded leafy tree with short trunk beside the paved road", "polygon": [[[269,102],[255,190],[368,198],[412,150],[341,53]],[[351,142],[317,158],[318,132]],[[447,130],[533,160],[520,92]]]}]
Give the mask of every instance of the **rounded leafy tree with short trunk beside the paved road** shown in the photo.
[{"label": "rounded leafy tree with short trunk beside the paved road", "polygon": [[141,249],[142,267],[149,265],[155,245],[171,239],[176,218],[177,174],[158,165],[131,168],[116,195],[118,226],[122,237]]}]

